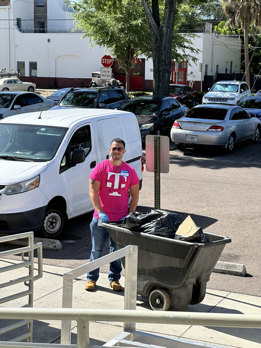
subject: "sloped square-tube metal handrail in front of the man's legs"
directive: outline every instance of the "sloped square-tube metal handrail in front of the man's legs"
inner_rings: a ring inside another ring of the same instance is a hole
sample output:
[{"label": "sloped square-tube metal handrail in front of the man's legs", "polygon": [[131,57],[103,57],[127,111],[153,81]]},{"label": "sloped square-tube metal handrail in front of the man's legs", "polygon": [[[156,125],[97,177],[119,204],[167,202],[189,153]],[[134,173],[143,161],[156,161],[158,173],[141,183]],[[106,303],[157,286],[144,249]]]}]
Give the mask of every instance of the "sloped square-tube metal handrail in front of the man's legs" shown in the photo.
[{"label": "sloped square-tube metal handrail in front of the man's legs", "polygon": [[[91,261],[82,266],[74,268],[63,275],[63,308],[72,308],[72,288],[73,279],[84,275],[96,268],[100,268],[105,264],[125,257],[125,286],[124,286],[124,309],[136,309],[137,299],[137,258],[138,247],[136,245],[128,245],[125,248],[114,251],[109,255],[105,255],[100,259]],[[124,322],[124,331],[135,330],[135,323]],[[71,321],[62,321],[61,343],[71,343]]]}]

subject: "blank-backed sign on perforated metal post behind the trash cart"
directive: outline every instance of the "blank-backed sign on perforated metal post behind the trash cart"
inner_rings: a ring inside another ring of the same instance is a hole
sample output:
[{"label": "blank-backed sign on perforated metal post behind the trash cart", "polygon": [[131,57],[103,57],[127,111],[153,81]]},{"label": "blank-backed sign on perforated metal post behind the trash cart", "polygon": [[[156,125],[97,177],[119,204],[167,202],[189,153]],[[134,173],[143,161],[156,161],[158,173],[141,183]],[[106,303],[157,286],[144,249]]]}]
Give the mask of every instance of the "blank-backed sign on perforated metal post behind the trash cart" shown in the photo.
[{"label": "blank-backed sign on perforated metal post behind the trash cart", "polygon": [[160,173],[169,172],[168,136],[146,136],[146,171],[154,172],[154,206],[160,209]]}]

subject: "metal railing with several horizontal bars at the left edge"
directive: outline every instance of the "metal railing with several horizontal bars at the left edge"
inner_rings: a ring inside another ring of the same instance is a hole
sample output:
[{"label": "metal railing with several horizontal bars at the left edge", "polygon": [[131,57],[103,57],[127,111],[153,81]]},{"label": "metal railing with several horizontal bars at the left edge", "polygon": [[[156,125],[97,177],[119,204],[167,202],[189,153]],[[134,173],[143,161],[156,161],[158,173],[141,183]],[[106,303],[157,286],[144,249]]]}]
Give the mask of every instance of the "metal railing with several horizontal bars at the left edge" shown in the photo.
[{"label": "metal railing with several horizontal bars at the left edge", "polygon": [[[11,264],[9,266],[0,267],[0,273],[12,271],[22,267],[27,267],[29,270],[29,274],[23,277],[8,280],[7,282],[0,283],[0,288],[4,288],[14,284],[24,283],[26,286],[28,286],[28,290],[0,298],[0,304],[15,300],[18,298],[22,298],[28,295],[29,296],[28,303],[25,305],[25,307],[33,307],[33,282],[39,278],[42,278],[42,243],[40,242],[40,243],[33,244],[33,232],[25,232],[25,233],[21,233],[17,235],[3,236],[3,237],[0,237],[0,243],[8,243],[12,240],[17,240],[17,239],[26,238],[26,237],[28,237],[28,246],[0,252],[0,258],[4,256],[16,255],[21,253],[22,261],[23,261],[23,262]],[[33,270],[34,249],[38,250],[38,274],[35,276],[34,276],[34,270]],[[29,253],[28,259],[26,259],[24,256],[26,252]],[[23,320],[21,322],[17,322],[15,324],[3,327],[2,329],[0,329],[0,334],[9,332],[11,330],[14,330],[24,325],[27,325],[28,332],[24,335],[16,337],[15,339],[13,339],[13,341],[19,342],[19,341],[28,339],[28,342],[32,342],[32,332],[33,332],[32,319]]]}]

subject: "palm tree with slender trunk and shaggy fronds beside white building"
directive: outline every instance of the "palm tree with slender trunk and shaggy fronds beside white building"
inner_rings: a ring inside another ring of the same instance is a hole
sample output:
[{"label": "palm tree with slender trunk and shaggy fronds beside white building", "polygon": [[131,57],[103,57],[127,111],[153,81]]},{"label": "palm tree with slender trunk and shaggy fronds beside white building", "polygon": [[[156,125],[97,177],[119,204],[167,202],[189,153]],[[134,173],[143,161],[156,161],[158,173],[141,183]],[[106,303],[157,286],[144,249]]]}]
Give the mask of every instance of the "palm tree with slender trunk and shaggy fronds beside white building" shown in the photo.
[{"label": "palm tree with slender trunk and shaggy fronds beside white building", "polygon": [[226,25],[235,28],[241,25],[244,30],[245,73],[246,82],[250,86],[248,34],[255,39],[255,31],[251,28],[251,24],[256,27],[261,25],[261,0],[223,0],[222,7],[224,13],[228,16]]}]

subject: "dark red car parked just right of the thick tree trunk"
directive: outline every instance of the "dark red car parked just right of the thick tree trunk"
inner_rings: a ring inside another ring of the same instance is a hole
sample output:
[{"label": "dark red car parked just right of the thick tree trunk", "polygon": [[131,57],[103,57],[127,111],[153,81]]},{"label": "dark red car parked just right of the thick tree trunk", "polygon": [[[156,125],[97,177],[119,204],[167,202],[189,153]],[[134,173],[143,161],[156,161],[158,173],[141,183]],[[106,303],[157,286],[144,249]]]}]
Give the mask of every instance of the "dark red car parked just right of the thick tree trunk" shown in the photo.
[{"label": "dark red car parked just right of the thick tree trunk", "polygon": [[195,89],[187,85],[169,85],[169,96],[176,98],[180,103],[187,105],[189,108],[193,108],[196,105]]}]

